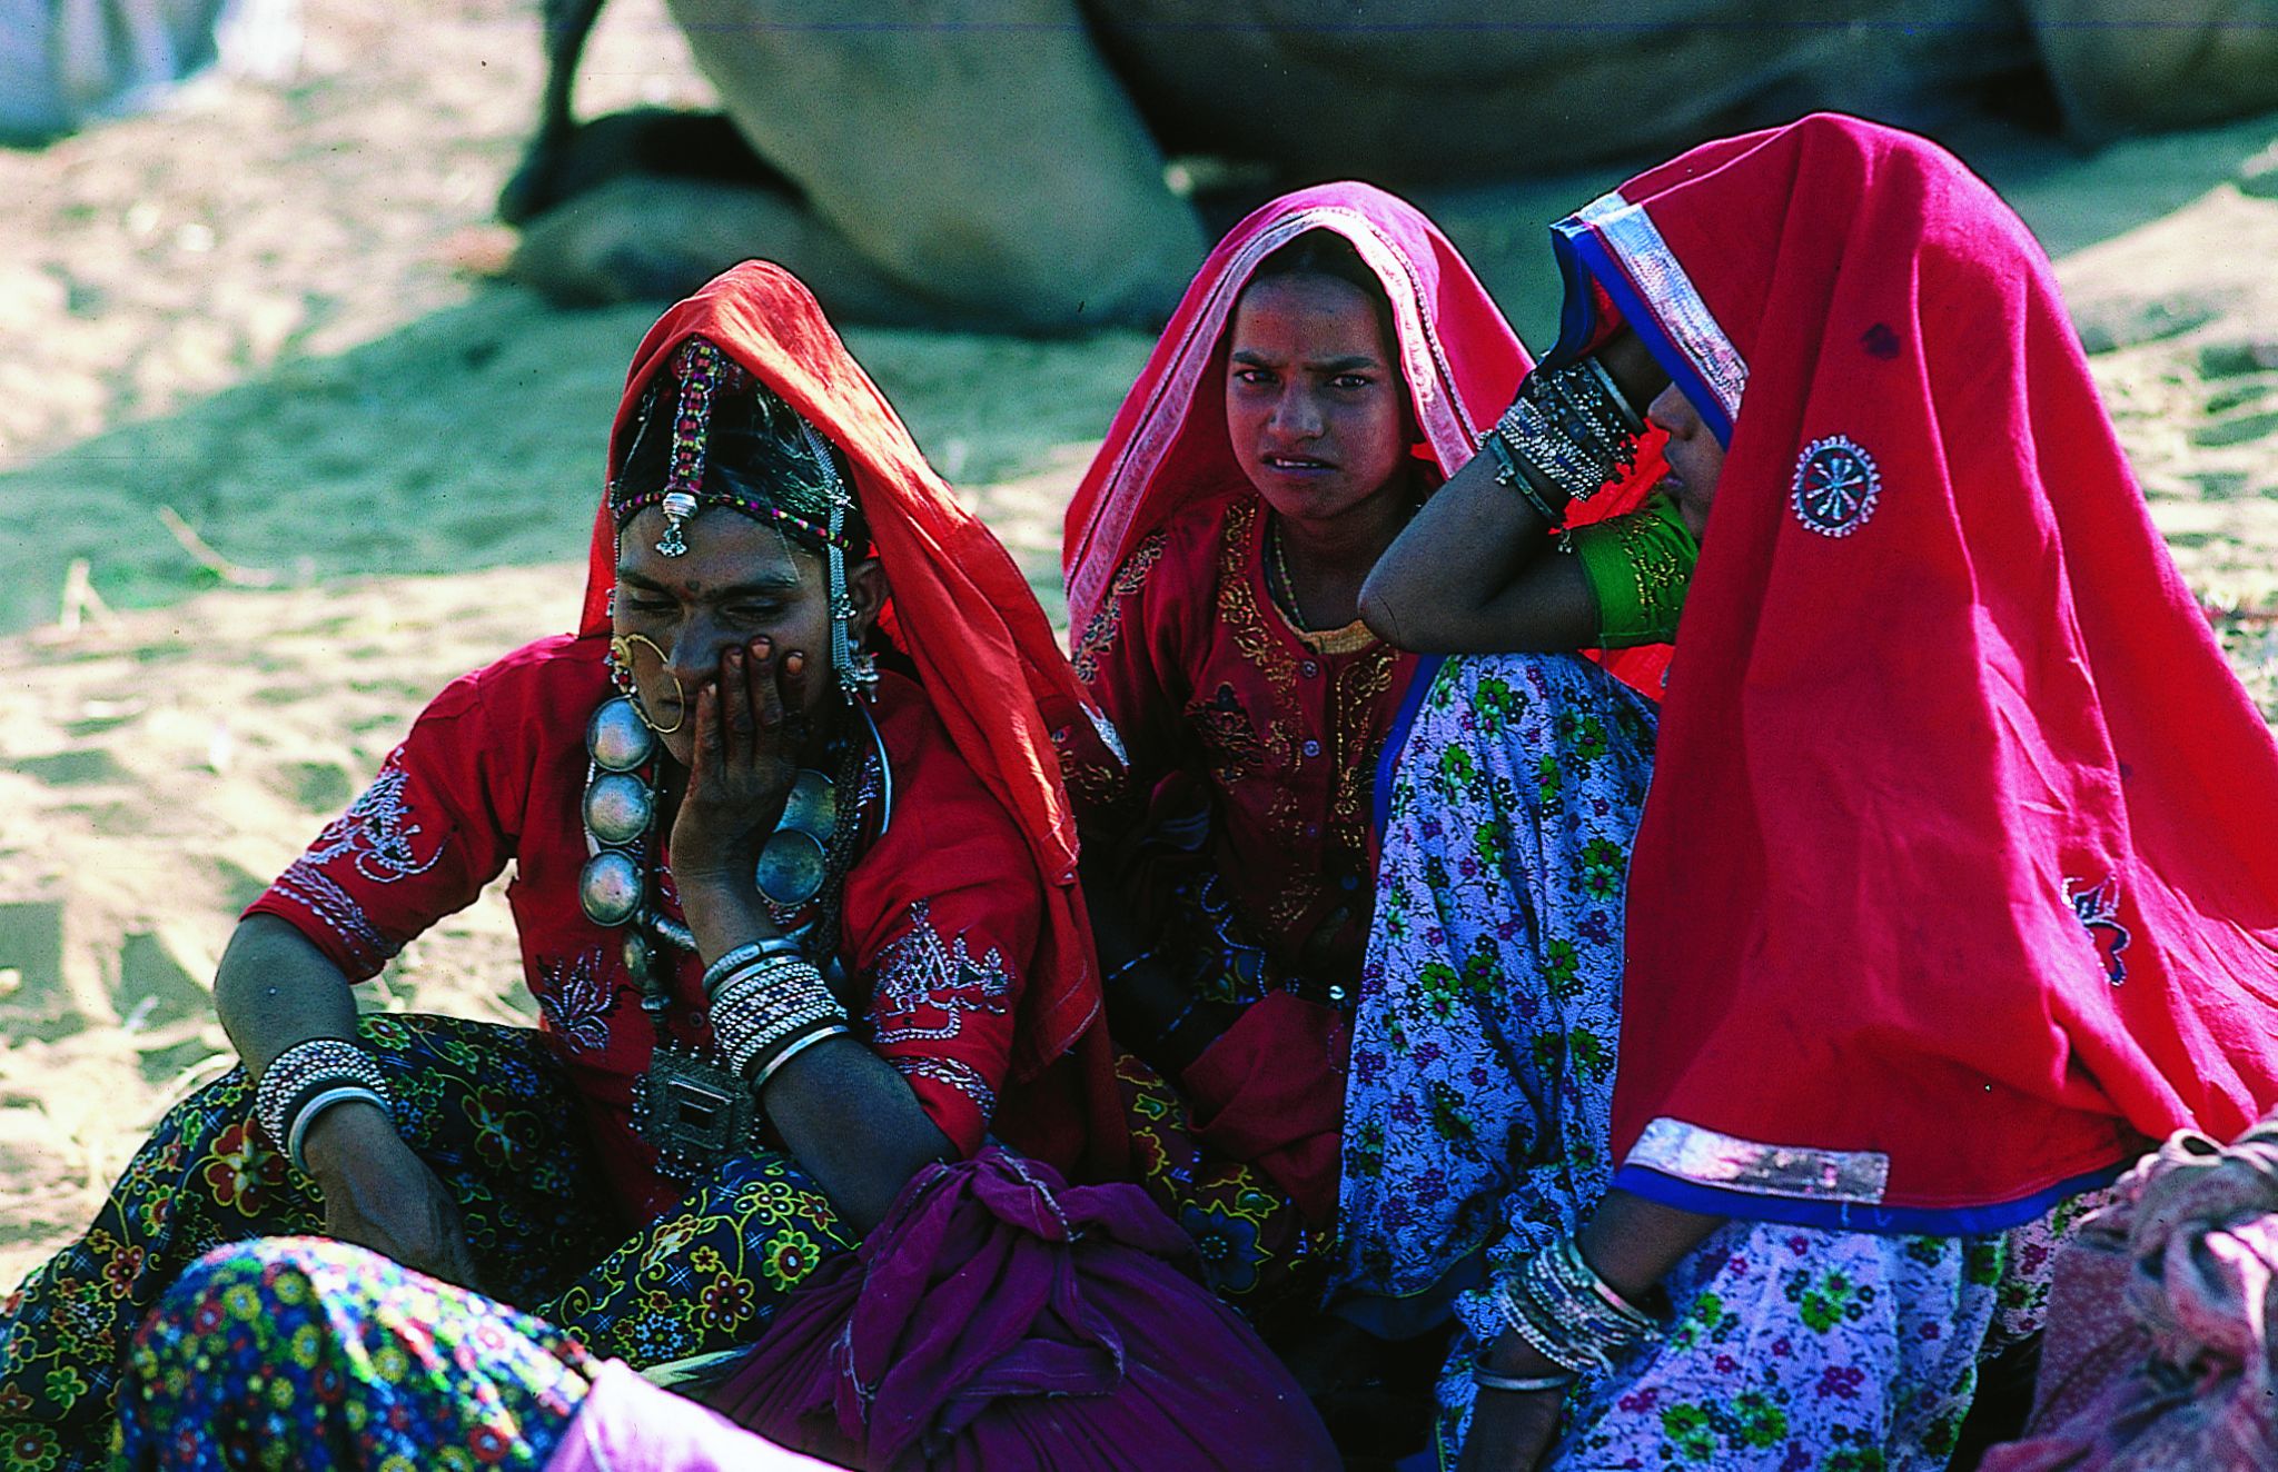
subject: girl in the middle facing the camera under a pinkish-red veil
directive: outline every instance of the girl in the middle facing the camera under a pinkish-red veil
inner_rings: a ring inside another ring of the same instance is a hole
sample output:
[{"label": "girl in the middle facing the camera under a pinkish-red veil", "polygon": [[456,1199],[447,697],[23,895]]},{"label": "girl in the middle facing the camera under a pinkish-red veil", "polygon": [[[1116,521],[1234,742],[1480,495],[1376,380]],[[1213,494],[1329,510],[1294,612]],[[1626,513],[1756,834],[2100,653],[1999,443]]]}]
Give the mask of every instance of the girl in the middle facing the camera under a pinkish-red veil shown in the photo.
[{"label": "girl in the middle facing the camera under a pinkish-red veil", "polygon": [[[1415,672],[1360,583],[1526,362],[1415,207],[1305,189],[1212,251],[1068,510],[1075,670],[1128,757],[1066,763],[1109,1023],[1191,1112],[1205,1153],[1141,1123],[1139,1155],[1239,1244],[1232,1290],[1335,1215],[1371,782]],[[1212,1158],[1262,1189],[1196,1205]]]}]

